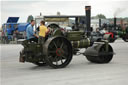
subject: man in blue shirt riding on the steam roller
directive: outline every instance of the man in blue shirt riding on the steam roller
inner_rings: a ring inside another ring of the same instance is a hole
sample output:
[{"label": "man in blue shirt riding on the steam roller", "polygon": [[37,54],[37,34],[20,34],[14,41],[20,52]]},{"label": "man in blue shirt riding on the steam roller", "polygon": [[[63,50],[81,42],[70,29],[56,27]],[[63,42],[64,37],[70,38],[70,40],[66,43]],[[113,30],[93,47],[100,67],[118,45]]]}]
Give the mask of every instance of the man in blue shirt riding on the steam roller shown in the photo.
[{"label": "man in blue shirt riding on the steam roller", "polygon": [[35,34],[33,28],[34,25],[35,25],[35,21],[31,20],[30,25],[28,25],[26,29],[27,40],[29,40],[30,42],[31,41],[38,42],[38,36]]}]

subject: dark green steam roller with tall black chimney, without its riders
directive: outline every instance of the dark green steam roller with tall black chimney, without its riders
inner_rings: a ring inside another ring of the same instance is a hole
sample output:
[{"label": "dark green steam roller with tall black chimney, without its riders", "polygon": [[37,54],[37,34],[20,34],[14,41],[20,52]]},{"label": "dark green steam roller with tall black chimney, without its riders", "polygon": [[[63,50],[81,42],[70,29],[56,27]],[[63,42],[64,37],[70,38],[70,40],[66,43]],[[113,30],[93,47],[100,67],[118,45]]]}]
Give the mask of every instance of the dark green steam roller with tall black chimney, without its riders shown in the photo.
[{"label": "dark green steam roller with tall black chimney, without its riders", "polygon": [[[90,35],[90,6],[86,6],[87,31],[63,31],[53,24],[54,28],[44,44],[25,40],[20,52],[20,62],[30,62],[38,66],[49,65],[52,68],[64,68],[72,60],[73,55],[82,54],[93,63],[109,63],[114,55],[108,41],[93,42]],[[80,49],[85,52],[80,53]]]}]

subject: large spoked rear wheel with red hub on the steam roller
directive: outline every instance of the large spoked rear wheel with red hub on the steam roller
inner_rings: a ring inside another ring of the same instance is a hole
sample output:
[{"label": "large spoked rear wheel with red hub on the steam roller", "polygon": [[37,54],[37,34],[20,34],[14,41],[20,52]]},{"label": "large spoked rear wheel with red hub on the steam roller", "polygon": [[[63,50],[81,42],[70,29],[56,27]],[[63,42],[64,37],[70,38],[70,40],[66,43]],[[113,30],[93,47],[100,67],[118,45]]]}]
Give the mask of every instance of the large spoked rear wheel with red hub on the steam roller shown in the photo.
[{"label": "large spoked rear wheel with red hub on the steam roller", "polygon": [[64,37],[48,39],[44,45],[46,63],[53,68],[63,68],[72,59],[72,45]]}]

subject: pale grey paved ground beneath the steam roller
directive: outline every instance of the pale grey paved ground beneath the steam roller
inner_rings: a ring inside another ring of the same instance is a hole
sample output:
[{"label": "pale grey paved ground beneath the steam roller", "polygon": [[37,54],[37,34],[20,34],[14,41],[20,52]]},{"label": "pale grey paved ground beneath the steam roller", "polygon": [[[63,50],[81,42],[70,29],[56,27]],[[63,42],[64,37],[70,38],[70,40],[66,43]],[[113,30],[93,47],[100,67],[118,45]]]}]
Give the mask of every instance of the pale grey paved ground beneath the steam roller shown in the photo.
[{"label": "pale grey paved ground beneath the steam roller", "polygon": [[74,56],[63,69],[19,63],[21,45],[1,45],[2,85],[128,85],[128,43],[111,44],[116,55],[109,64],[93,64]]}]

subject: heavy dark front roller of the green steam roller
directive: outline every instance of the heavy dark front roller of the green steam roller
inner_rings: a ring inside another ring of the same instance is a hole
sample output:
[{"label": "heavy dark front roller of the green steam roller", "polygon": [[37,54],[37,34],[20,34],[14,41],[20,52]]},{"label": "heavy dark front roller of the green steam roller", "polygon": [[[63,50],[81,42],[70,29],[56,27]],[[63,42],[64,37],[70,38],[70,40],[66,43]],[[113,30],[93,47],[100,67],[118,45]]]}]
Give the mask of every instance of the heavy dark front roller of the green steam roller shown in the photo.
[{"label": "heavy dark front roller of the green steam roller", "polygon": [[85,51],[87,60],[93,63],[109,63],[113,58],[113,49],[108,43],[95,43]]}]

